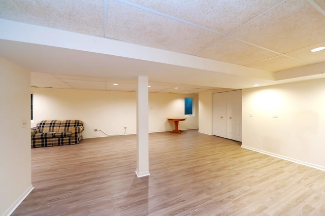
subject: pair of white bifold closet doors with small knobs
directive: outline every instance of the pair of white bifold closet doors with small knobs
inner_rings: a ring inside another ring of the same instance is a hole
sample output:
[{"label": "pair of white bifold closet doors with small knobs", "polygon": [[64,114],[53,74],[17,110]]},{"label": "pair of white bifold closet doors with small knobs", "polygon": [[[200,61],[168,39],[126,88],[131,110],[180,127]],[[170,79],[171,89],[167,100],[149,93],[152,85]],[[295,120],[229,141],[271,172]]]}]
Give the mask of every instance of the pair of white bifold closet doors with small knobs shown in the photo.
[{"label": "pair of white bifold closet doors with small knobs", "polygon": [[242,140],[241,90],[213,94],[213,135]]}]

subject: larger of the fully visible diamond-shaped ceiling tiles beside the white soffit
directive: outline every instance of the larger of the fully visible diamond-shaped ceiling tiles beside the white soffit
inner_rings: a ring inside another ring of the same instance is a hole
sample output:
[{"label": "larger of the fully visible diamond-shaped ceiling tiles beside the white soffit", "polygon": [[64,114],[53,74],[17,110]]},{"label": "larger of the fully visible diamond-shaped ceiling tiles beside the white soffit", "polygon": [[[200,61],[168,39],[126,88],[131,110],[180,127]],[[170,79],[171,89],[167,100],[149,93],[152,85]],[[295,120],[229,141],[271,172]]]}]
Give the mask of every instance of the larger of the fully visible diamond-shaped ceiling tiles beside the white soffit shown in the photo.
[{"label": "larger of the fully visible diamond-shaped ceiling tiles beside the white soffit", "polygon": [[223,38],[197,53],[197,55],[204,58],[246,66],[264,59],[272,58],[278,54],[231,38]]}]

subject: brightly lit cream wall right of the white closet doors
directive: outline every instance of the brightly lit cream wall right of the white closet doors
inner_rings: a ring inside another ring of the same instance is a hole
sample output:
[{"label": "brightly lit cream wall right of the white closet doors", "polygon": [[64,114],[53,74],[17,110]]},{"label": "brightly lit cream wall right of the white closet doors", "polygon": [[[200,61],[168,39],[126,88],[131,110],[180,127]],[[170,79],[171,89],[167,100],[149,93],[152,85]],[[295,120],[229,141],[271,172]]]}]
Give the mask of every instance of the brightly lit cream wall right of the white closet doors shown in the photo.
[{"label": "brightly lit cream wall right of the white closet doors", "polygon": [[243,147],[325,169],[325,79],[244,89],[242,121]]}]

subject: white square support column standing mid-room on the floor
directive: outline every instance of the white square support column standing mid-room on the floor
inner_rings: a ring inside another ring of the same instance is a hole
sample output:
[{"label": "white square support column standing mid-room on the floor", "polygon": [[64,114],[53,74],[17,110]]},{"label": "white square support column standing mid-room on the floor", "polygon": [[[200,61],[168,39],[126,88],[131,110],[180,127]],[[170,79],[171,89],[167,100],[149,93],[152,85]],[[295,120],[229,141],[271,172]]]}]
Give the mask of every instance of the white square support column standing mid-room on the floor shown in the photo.
[{"label": "white square support column standing mid-room on the floor", "polygon": [[137,91],[137,169],[138,177],[149,173],[148,77],[138,77]]}]

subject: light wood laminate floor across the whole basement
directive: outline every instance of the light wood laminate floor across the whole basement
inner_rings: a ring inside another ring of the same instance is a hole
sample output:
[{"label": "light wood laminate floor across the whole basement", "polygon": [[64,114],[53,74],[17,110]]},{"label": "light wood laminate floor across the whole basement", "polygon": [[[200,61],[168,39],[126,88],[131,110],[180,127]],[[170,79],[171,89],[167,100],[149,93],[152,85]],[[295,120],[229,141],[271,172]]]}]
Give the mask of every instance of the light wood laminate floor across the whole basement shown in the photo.
[{"label": "light wood laminate floor across the whole basement", "polygon": [[35,189],[13,215],[325,215],[325,172],[186,130],[31,150]]}]

